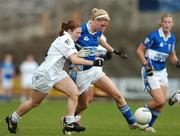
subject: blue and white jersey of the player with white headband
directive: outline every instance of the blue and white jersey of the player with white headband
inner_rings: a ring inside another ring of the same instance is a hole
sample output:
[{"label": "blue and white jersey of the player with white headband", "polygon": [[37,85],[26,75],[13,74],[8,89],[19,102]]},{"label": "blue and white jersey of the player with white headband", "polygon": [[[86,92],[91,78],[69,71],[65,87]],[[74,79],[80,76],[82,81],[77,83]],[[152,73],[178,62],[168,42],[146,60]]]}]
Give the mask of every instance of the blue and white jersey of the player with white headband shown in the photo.
[{"label": "blue and white jersey of the player with white headband", "polygon": [[[96,50],[99,45],[99,39],[102,35],[102,32],[91,32],[90,27],[90,21],[86,24],[81,25],[82,32],[81,36],[76,42],[76,48],[78,50],[85,48],[87,50],[90,50],[89,56],[85,57],[86,60],[94,61],[96,58]],[[85,65],[76,65],[80,70],[87,70],[91,68],[92,66],[85,66]]]}]

